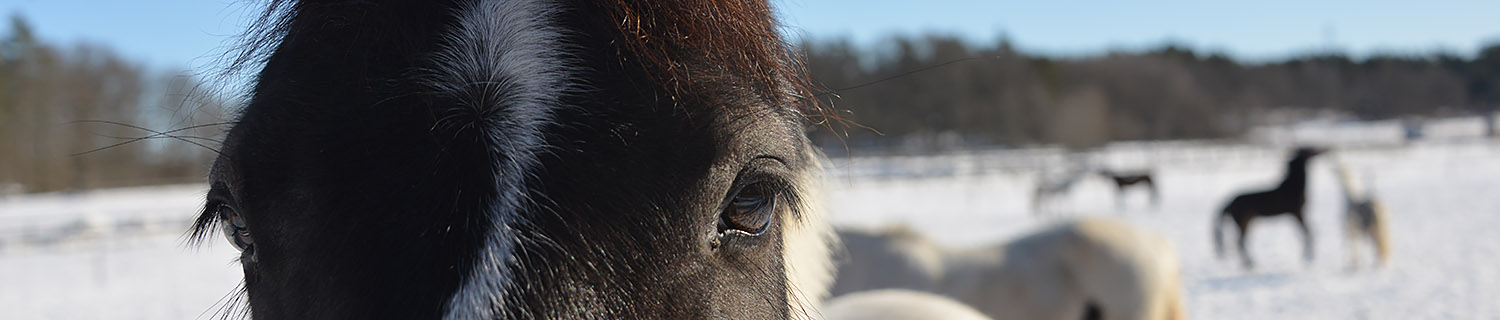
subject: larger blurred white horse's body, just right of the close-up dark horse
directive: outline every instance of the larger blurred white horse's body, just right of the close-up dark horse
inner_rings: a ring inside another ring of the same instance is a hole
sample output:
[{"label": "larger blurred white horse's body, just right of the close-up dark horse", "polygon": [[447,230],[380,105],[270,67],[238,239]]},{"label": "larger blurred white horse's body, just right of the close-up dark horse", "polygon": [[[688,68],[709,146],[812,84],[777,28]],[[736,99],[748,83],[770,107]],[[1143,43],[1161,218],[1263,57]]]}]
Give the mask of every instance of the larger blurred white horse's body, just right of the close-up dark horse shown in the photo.
[{"label": "larger blurred white horse's body, just right of the close-up dark horse", "polygon": [[909,228],[840,230],[832,296],[908,288],[998,320],[1185,318],[1176,249],[1128,224],[1083,218],[1010,243],[954,249]]}]

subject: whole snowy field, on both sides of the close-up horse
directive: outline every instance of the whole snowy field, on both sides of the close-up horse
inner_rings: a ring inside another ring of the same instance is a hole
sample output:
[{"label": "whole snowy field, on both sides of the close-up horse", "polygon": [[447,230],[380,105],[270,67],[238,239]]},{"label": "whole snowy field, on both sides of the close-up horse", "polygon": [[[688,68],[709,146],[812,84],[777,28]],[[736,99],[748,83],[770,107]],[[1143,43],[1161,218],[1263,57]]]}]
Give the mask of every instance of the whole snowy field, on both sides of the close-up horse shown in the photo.
[{"label": "whole snowy field, on both sides of the close-up horse", "polygon": [[[1266,144],[1274,143],[1113,144],[1084,156],[1034,149],[836,158],[826,204],[836,224],[910,224],[954,246],[1006,240],[1068,216],[1116,216],[1176,243],[1192,318],[1500,318],[1500,144],[1346,143],[1336,156],[1390,210],[1392,264],[1347,267],[1342,198],[1334,158],[1324,156],[1310,168],[1317,260],[1302,263],[1290,218],[1262,219],[1250,243],[1258,269],[1245,272],[1214,257],[1210,221],[1234,194],[1280,180],[1286,149],[1258,147]],[[1116,209],[1113,186],[1094,176],[1050,203],[1048,215],[1032,215],[1038,173],[1080,158],[1154,170],[1164,201],[1152,209],[1144,192],[1132,192]],[[0,318],[208,317],[240,270],[222,239],[184,245],[204,189],[0,198]]]}]

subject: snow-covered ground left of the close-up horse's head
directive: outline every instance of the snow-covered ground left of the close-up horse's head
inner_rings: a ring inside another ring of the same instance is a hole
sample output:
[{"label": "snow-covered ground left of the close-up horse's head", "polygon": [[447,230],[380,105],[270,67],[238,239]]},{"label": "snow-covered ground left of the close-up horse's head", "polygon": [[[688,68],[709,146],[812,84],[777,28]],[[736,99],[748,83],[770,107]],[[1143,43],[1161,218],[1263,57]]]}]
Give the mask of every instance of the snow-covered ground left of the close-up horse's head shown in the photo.
[{"label": "snow-covered ground left of the close-up horse's head", "polygon": [[219,237],[184,243],[206,191],[0,198],[0,318],[208,318],[240,266]]}]

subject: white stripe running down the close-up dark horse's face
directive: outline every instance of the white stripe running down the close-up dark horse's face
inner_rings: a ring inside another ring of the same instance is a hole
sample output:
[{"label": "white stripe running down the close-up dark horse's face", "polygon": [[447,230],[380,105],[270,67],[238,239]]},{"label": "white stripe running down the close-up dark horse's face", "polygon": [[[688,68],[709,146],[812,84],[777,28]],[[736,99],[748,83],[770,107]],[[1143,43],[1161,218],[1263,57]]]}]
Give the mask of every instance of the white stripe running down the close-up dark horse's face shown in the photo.
[{"label": "white stripe running down the close-up dark horse's face", "polygon": [[[456,98],[453,113],[483,114],[472,123],[492,152],[496,198],[489,203],[490,233],[448,300],[446,318],[498,318],[519,266],[516,234],[530,200],[526,177],[537,170],[543,129],[573,84],[568,45],[549,0],[471,0],[458,11],[429,81]],[[478,173],[476,173],[478,174]]]}]

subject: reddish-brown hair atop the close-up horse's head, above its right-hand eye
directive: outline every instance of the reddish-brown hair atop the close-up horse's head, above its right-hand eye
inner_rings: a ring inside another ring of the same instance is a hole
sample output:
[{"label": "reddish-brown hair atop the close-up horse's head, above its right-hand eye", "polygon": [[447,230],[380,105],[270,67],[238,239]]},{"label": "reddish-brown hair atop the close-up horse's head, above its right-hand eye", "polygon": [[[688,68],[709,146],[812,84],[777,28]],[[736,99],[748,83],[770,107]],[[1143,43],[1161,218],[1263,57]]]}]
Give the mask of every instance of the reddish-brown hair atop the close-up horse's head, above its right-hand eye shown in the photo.
[{"label": "reddish-brown hair atop the close-up horse's head, above its right-hand eye", "polygon": [[764,98],[796,105],[808,119],[830,116],[764,0],[614,0],[604,11],[626,50],[674,96],[693,86],[684,80],[728,74],[753,81]]}]

